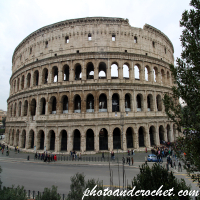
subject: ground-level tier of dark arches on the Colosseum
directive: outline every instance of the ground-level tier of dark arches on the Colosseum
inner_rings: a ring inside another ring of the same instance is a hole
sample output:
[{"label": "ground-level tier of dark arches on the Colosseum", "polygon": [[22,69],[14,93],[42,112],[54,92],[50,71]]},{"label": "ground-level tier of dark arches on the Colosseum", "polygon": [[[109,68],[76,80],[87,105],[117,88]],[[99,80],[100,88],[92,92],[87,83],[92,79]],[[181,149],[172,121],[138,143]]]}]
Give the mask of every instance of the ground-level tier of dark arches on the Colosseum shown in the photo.
[{"label": "ground-level tier of dark arches on the Colosseum", "polygon": [[7,127],[6,142],[29,150],[66,152],[139,149],[174,142],[180,135],[172,122],[80,127]]}]

